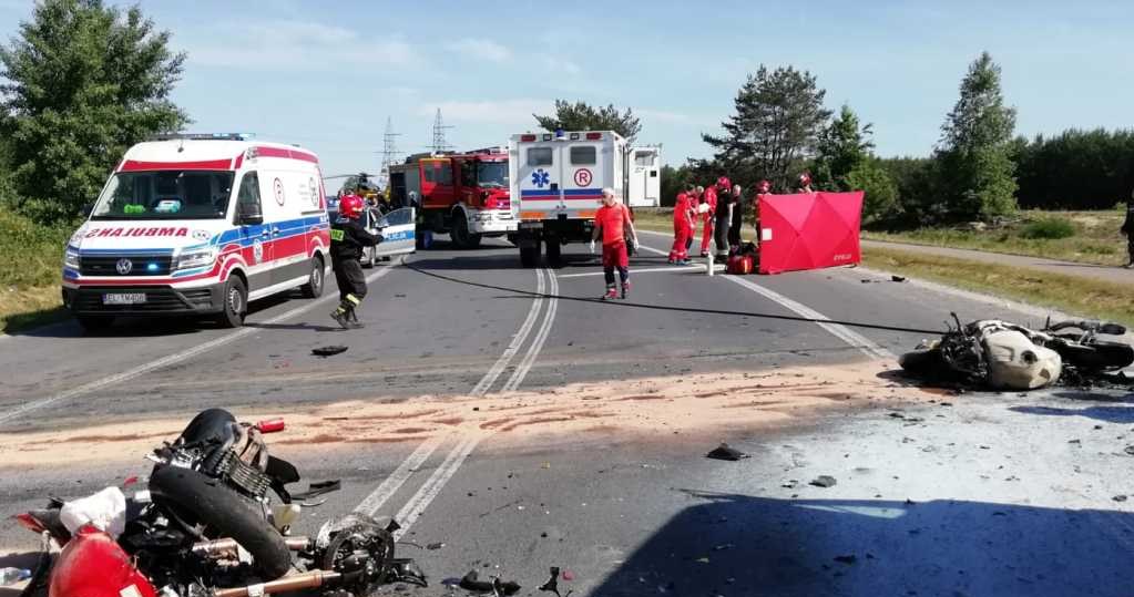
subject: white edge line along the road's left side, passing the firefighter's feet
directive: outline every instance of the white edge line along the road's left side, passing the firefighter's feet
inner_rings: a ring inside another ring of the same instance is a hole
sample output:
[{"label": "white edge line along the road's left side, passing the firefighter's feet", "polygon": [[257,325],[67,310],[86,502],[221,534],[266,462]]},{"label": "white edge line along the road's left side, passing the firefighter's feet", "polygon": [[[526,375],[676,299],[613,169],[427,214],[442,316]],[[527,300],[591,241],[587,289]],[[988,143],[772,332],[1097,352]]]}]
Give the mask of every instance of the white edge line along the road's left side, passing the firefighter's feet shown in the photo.
[{"label": "white edge line along the road's left side, passing the firefighter's feet", "polygon": [[[391,264],[389,267],[386,267],[386,268],[383,268],[380,272],[375,272],[375,273],[369,275],[366,278],[366,282],[369,283],[369,282],[372,282],[374,280],[378,280],[379,278],[382,278],[383,275],[386,275],[386,274],[388,274],[388,273],[390,273],[392,271],[393,271],[393,265]],[[307,302],[306,305],[303,305],[302,307],[296,307],[296,308],[289,310],[289,312],[286,312],[286,313],[282,313],[280,315],[277,315],[276,317],[272,317],[272,318],[266,319],[264,322],[254,322],[253,325],[255,325],[255,324],[272,325],[272,324],[277,324],[277,323],[280,323],[280,322],[285,322],[287,319],[290,319],[291,317],[295,317],[297,315],[302,315],[304,313],[307,313],[308,310],[311,310],[311,309],[313,309],[313,308],[315,308],[315,307],[318,307],[318,306],[320,306],[320,305],[322,305],[322,304],[324,304],[324,302],[327,302],[328,300],[331,300],[331,299],[338,300],[338,297],[336,297],[335,295],[327,295],[327,296],[323,296],[323,297],[318,298],[315,300],[312,300],[312,301]],[[122,373],[118,373],[118,374],[115,374],[115,375],[109,375],[107,377],[102,377],[100,379],[95,379],[93,382],[88,382],[88,383],[85,383],[83,385],[78,385],[78,386],[71,387],[70,390],[65,390],[62,392],[59,392],[59,393],[57,393],[54,395],[51,395],[51,396],[48,396],[48,398],[41,398],[40,400],[33,400],[33,401],[27,402],[27,403],[25,403],[25,404],[23,404],[23,406],[20,406],[18,408],[16,408],[16,409],[14,409],[14,410],[9,410],[7,412],[0,413],[0,426],[2,426],[3,424],[6,424],[8,421],[11,421],[11,420],[16,419],[17,417],[20,417],[23,415],[27,415],[28,412],[32,412],[32,411],[35,411],[35,410],[40,410],[40,409],[50,407],[50,406],[52,406],[54,403],[62,402],[65,400],[70,400],[73,398],[78,398],[81,395],[88,394],[91,392],[94,392],[96,390],[101,390],[101,389],[107,387],[107,386],[111,386],[111,385],[115,385],[115,384],[127,382],[129,379],[133,379],[133,378],[138,377],[141,375],[145,375],[145,374],[147,374],[147,373],[150,373],[152,370],[160,369],[162,367],[167,367],[169,365],[180,364],[180,363],[185,361],[186,359],[191,359],[191,358],[193,358],[193,357],[195,357],[197,355],[201,355],[202,352],[208,352],[208,351],[210,351],[210,350],[212,350],[214,348],[222,347],[225,344],[229,344],[229,343],[235,342],[236,340],[239,340],[239,339],[242,339],[242,338],[244,338],[244,336],[246,336],[248,334],[254,334],[254,333],[261,332],[261,331],[263,331],[263,330],[261,330],[260,327],[253,327],[253,326],[242,327],[242,329],[239,329],[239,330],[237,330],[235,332],[231,332],[231,333],[229,333],[227,335],[222,335],[222,336],[217,338],[214,340],[210,340],[210,341],[204,342],[202,344],[197,344],[197,346],[195,346],[193,348],[183,350],[180,352],[175,352],[172,355],[162,357],[162,358],[160,358],[158,360],[152,360],[152,361],[146,363],[144,365],[139,365],[137,367],[134,367],[133,369],[127,369],[127,370],[125,370]]]}]

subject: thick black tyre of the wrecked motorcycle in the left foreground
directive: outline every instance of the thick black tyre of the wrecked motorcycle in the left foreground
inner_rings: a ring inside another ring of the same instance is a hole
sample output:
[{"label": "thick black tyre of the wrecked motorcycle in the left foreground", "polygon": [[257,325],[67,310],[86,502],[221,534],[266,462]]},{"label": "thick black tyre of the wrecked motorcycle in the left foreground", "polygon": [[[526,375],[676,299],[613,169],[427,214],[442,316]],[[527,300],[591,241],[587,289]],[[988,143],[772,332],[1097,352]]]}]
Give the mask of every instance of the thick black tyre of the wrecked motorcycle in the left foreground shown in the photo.
[{"label": "thick black tyre of the wrecked motorcycle in the left foreground", "polygon": [[252,502],[221,480],[164,466],[150,477],[150,492],[159,505],[171,508],[191,523],[204,524],[206,537],[236,539],[252,554],[252,566],[262,580],[278,579],[291,568],[284,537]]}]

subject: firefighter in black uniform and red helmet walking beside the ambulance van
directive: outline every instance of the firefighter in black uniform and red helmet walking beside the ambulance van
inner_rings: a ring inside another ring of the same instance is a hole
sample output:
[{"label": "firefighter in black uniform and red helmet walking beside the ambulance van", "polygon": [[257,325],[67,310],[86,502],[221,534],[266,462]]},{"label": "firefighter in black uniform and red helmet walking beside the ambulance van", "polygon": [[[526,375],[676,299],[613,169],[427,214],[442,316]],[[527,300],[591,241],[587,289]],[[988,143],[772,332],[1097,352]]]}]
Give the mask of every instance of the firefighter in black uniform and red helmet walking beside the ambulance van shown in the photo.
[{"label": "firefighter in black uniform and red helmet walking beside the ambulance van", "polygon": [[381,234],[371,234],[358,222],[366,202],[357,195],[339,199],[339,216],[331,224],[331,266],[339,284],[339,307],[331,317],[344,329],[362,327],[355,310],[366,298],[366,276],[362,273],[364,247],[378,245]]}]

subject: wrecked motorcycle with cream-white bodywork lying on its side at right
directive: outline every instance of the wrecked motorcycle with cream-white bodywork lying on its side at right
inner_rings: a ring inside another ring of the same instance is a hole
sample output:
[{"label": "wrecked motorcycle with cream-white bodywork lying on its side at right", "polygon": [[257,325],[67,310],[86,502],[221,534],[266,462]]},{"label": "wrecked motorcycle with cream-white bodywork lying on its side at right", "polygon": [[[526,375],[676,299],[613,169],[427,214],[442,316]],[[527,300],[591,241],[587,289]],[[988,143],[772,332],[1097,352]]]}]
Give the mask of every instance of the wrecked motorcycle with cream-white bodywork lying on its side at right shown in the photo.
[{"label": "wrecked motorcycle with cream-white bodywork lying on its side at right", "polygon": [[1052,384],[1122,383],[1116,372],[1134,363],[1134,348],[1100,339],[1120,336],[1126,329],[1114,323],[1067,321],[1031,330],[999,319],[962,325],[951,314],[951,327],[933,342],[923,342],[902,356],[908,374],[973,389],[1027,391]]}]

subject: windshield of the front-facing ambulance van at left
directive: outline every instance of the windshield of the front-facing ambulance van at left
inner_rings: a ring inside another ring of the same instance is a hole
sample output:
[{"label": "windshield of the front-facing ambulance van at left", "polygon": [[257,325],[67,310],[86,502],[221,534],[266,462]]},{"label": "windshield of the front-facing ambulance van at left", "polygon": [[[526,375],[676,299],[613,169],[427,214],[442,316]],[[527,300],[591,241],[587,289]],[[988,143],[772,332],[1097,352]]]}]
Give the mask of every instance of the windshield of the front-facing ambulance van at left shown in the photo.
[{"label": "windshield of the front-facing ambulance van at left", "polygon": [[231,195],[232,172],[119,172],[102,191],[91,219],[220,220]]}]

